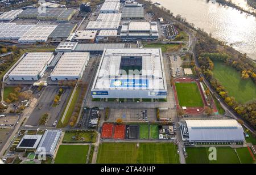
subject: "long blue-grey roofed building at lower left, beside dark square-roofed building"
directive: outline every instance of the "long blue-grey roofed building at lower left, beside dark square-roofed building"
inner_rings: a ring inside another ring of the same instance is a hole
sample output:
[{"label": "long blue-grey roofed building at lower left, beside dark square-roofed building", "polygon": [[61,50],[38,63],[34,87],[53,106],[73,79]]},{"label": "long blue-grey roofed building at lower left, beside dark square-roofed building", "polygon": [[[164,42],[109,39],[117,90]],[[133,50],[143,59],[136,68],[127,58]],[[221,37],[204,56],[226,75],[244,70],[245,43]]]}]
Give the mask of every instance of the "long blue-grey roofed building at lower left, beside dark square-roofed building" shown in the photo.
[{"label": "long blue-grey roofed building at lower left, beside dark square-roofed building", "polygon": [[60,136],[61,130],[47,130],[44,133],[41,142],[39,143],[36,154],[45,151],[46,155],[53,155],[59,142]]}]

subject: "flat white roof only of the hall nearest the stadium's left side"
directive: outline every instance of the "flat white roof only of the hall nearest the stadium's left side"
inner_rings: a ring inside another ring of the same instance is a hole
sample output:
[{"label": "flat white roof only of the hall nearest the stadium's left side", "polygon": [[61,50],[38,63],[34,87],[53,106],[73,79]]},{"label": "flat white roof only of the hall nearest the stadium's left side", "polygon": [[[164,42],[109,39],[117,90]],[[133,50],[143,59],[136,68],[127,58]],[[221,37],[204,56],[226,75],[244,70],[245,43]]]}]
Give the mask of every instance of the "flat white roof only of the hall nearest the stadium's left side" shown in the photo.
[{"label": "flat white roof only of the hall nearest the stadium's left side", "polygon": [[89,52],[65,52],[53,69],[51,76],[80,75],[89,56]]}]

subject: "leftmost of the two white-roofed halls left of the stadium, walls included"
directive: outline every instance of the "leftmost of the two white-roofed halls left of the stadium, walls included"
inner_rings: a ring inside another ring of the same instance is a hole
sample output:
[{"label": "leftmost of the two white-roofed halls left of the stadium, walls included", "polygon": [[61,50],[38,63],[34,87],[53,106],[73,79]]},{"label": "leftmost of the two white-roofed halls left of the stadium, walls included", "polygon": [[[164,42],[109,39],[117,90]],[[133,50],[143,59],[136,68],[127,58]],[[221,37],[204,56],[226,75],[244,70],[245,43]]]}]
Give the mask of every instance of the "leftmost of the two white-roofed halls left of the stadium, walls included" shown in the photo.
[{"label": "leftmost of the two white-roofed halls left of the stadium, walls included", "polygon": [[52,52],[31,52],[24,54],[22,59],[11,70],[10,80],[32,80],[42,78],[54,55]]}]

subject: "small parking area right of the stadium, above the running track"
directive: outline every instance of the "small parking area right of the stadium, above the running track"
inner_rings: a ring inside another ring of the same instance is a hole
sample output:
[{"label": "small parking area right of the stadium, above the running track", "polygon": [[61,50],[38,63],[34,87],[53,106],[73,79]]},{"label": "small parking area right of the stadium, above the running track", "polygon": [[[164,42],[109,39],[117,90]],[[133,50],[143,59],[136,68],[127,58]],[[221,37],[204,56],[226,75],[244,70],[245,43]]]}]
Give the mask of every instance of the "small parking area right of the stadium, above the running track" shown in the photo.
[{"label": "small parking area right of the stadium, above the running track", "polygon": [[180,56],[170,56],[170,62],[171,62],[171,74],[173,77],[176,76],[183,76],[183,68],[182,66],[182,59]]}]

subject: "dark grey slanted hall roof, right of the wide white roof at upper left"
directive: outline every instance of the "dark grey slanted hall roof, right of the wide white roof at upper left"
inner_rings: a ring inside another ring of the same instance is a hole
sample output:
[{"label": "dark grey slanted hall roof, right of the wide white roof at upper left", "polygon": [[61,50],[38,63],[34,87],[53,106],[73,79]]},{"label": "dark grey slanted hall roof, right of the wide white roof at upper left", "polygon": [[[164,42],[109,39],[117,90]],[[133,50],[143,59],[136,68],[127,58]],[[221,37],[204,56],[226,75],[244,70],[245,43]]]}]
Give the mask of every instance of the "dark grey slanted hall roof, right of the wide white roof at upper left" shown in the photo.
[{"label": "dark grey slanted hall roof, right of the wide white roof at upper left", "polygon": [[55,38],[67,38],[70,33],[75,29],[76,24],[59,24],[54,31],[49,35],[49,38],[55,39]]}]

